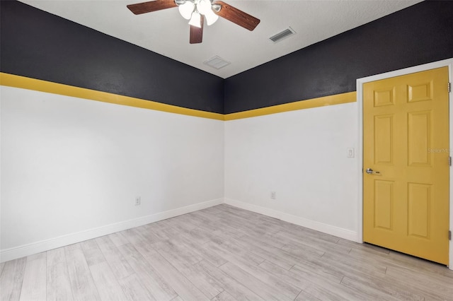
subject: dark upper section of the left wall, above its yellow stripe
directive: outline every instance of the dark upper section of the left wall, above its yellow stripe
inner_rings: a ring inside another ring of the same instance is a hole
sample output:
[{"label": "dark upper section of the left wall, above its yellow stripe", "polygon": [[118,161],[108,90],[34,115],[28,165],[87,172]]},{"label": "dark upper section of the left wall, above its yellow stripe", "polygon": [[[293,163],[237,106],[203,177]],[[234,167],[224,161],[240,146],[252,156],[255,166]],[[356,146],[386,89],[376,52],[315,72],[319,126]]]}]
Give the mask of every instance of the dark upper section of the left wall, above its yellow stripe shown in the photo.
[{"label": "dark upper section of the left wall, above its yellow stripe", "polygon": [[1,72],[223,113],[222,78],[18,1],[0,13]]}]

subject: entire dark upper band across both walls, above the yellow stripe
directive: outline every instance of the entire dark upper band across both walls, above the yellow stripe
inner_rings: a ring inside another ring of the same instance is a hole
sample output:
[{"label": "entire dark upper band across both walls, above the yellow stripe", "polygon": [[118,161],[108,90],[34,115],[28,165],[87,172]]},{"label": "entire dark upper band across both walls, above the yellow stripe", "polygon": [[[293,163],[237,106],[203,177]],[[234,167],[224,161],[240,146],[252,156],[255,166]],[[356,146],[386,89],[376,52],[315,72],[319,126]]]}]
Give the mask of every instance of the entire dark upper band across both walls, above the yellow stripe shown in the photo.
[{"label": "entire dark upper band across both walls, above the yellow stripe", "polygon": [[18,1],[0,13],[2,72],[225,114],[453,57],[453,1],[424,1],[226,80]]}]

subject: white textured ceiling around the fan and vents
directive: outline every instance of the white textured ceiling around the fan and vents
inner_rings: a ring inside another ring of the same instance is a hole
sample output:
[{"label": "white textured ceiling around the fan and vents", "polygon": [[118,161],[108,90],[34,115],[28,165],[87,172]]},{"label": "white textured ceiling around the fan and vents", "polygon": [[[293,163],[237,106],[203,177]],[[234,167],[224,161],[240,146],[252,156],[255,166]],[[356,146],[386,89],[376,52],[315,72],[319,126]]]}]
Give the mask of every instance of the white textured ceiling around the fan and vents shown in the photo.
[{"label": "white textured ceiling around the fan and vents", "polygon": [[[267,61],[356,28],[420,0],[224,0],[261,20],[251,31],[219,18],[205,25],[203,42],[189,44],[189,25],[178,8],[135,16],[127,4],[144,0],[21,0],[76,23],[228,78]],[[296,34],[274,43],[269,37],[291,27]],[[219,56],[222,69],[203,64]]]}]

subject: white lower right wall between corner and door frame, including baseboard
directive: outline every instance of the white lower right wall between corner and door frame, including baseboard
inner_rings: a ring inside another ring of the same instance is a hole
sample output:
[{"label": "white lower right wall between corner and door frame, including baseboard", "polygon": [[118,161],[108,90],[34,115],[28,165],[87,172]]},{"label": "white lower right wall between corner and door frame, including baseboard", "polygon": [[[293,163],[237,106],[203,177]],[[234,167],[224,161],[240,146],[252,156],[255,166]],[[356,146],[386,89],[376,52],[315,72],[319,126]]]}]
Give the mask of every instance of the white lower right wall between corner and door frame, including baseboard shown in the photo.
[{"label": "white lower right wall between corner and door frame, including baseboard", "polygon": [[226,203],[357,240],[357,119],[353,102],[226,122]]}]

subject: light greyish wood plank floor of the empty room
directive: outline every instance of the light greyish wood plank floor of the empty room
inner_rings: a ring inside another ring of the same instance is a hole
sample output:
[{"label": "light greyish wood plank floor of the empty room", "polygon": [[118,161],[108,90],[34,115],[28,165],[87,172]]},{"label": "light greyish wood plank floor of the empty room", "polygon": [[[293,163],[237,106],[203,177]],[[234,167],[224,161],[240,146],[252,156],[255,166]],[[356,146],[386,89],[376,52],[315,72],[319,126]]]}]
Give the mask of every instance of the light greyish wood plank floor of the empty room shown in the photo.
[{"label": "light greyish wood plank floor of the empty room", "polygon": [[453,271],[219,205],[0,266],[0,300],[453,300]]}]

